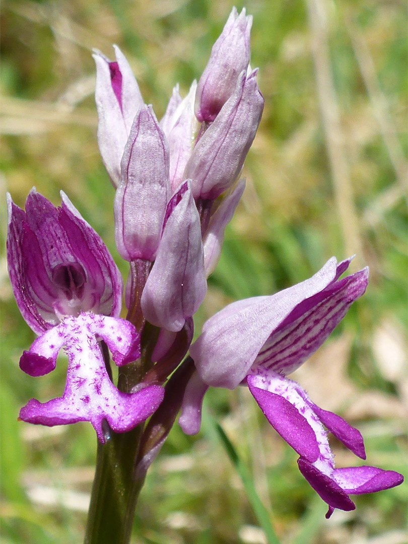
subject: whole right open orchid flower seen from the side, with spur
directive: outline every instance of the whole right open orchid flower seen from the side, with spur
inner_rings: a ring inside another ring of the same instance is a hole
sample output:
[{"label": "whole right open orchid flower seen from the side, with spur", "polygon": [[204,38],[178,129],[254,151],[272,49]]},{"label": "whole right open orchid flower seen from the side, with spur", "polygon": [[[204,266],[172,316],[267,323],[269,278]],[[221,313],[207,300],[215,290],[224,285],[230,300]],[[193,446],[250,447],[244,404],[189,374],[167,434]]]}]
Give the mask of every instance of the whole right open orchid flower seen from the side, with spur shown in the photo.
[{"label": "whole right open orchid flower seen from the side, with spur", "polygon": [[179,423],[187,434],[200,429],[202,399],[209,386],[233,389],[247,384],[269,423],[299,453],[299,469],[320,497],[335,508],[353,510],[349,494],[399,485],[397,472],[361,466],[335,468],[327,430],[362,459],[360,432],[316,406],[286,378],[330,335],[366,290],[368,269],[343,279],[351,259],[331,258],[311,279],[273,296],[230,304],[203,326],[190,348],[196,373],[183,399]]}]

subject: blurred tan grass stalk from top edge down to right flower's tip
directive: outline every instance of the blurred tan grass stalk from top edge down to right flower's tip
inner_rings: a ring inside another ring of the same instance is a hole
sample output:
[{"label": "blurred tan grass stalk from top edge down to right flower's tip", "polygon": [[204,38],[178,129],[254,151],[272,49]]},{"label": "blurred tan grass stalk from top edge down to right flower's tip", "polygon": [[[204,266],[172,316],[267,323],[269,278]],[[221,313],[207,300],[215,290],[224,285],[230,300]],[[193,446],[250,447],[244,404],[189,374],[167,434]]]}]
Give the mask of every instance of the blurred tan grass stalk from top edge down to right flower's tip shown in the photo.
[{"label": "blurred tan grass stalk from top edge down to right flower's tip", "polygon": [[306,0],[316,73],[317,94],[326,138],[327,155],[341,223],[345,253],[361,255],[353,186],[345,153],[344,134],[329,57],[329,24],[325,0]]}]

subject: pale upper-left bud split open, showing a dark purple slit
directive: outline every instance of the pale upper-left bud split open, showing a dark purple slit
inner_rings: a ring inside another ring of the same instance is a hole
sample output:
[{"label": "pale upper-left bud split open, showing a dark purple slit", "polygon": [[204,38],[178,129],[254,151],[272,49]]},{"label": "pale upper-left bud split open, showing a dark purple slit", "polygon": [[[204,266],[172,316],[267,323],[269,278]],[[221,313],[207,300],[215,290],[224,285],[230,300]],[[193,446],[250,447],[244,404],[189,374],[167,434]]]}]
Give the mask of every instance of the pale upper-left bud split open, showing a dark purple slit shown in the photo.
[{"label": "pale upper-left bud split open, showing a dark purple slit", "polygon": [[143,106],[139,86],[118,46],[116,62],[101,52],[92,55],[96,63],[95,101],[98,110],[98,144],[113,186],[120,181],[120,161],[138,109]]}]

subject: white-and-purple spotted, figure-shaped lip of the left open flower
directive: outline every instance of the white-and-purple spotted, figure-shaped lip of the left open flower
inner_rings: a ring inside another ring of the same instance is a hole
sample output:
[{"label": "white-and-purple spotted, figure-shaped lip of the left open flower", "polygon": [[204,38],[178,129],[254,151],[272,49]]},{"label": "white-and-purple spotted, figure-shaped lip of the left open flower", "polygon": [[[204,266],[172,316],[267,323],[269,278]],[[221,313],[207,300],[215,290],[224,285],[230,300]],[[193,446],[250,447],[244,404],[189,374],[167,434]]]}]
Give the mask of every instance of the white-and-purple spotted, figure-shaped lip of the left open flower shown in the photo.
[{"label": "white-and-purple spotted, figure-shaped lip of the left open flower", "polygon": [[126,432],[152,415],[163,400],[163,388],[153,385],[132,394],[118,391],[109,379],[98,338],[108,345],[118,366],[140,356],[140,338],[131,323],[92,313],[65,318],[37,338],[20,359],[24,372],[44,375],[55,368],[58,352],[65,347],[69,362],[64,394],[44,404],[30,400],[20,419],[47,426],[89,421],[104,443],[107,429]]}]

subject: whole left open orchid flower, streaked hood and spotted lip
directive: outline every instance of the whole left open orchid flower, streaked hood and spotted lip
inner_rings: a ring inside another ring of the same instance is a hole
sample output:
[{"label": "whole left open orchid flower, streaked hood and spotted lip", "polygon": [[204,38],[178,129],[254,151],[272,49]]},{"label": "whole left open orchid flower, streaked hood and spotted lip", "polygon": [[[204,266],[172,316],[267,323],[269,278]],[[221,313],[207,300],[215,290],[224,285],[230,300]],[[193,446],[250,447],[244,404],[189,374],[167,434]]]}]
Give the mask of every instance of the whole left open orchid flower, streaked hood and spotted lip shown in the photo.
[{"label": "whole left open orchid flower, streaked hood and spotted lip", "polygon": [[100,341],[120,366],[140,356],[140,335],[118,317],[123,284],[112,256],[61,195],[62,206],[55,208],[33,189],[26,212],[8,195],[11,286],[22,316],[41,335],[24,351],[20,367],[32,376],[47,374],[62,347],[69,360],[63,397],[45,404],[32,399],[20,418],[48,426],[89,421],[104,442],[109,427],[125,432],[151,416],[164,390],[150,386],[126,394],[110,380]]}]

